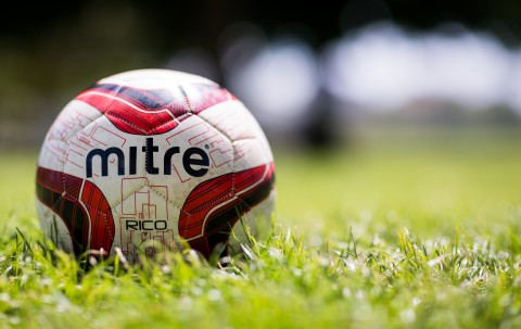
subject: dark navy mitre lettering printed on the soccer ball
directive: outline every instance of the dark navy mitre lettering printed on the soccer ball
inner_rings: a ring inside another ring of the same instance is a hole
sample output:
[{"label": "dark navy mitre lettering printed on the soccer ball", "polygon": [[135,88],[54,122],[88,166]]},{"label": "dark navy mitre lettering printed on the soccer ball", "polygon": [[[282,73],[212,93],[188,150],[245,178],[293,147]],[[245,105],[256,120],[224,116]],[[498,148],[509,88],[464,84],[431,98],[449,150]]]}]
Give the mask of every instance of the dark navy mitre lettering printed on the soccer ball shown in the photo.
[{"label": "dark navy mitre lettering printed on the soccer ball", "polygon": [[[150,175],[160,175],[161,170],[157,166],[158,164],[154,163],[154,153],[160,152],[160,147],[154,144],[153,138],[147,138],[145,145],[141,148],[141,152],[144,156],[144,168]],[[125,153],[120,148],[107,148],[93,149],[87,154],[85,160],[86,163],[86,176],[87,178],[92,177],[92,163],[100,164],[101,166],[101,176],[109,176],[109,156],[114,154],[117,161],[117,175],[126,175],[125,168],[128,168],[128,175],[137,174],[137,159],[138,159],[138,147],[128,148],[128,165],[126,165]],[[203,149],[200,148],[188,148],[181,152],[179,147],[171,147],[164,151],[163,155],[163,174],[171,174],[171,163],[175,161],[176,156],[181,156],[182,167],[188,175],[192,177],[202,177],[206,175],[209,168],[209,157],[208,154]],[[96,160],[96,161],[94,161]]]}]

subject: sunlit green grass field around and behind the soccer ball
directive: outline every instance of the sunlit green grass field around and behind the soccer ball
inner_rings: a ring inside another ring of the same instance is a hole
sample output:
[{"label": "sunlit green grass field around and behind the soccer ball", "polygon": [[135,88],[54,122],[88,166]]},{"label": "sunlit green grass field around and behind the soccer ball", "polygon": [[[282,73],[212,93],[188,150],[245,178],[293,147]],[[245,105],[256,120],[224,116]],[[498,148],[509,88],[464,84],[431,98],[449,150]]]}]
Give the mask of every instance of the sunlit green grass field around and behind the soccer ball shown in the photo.
[{"label": "sunlit green grass field around and behind the soccer ball", "polygon": [[520,140],[365,131],[280,150],[276,225],[245,258],[87,273],[39,235],[36,153],[1,153],[0,327],[520,328]]}]

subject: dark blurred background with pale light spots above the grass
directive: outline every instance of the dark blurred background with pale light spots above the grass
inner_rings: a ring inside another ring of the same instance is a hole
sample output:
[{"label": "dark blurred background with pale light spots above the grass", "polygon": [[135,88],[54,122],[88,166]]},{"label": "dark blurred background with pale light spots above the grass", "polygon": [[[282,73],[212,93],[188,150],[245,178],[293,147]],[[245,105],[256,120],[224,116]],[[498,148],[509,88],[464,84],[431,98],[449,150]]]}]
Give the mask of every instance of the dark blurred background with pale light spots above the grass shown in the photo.
[{"label": "dark blurred background with pale light spots above the grass", "polygon": [[0,13],[0,148],[39,148],[98,79],[208,77],[275,148],[364,128],[517,128],[521,5],[511,0],[11,2]]}]

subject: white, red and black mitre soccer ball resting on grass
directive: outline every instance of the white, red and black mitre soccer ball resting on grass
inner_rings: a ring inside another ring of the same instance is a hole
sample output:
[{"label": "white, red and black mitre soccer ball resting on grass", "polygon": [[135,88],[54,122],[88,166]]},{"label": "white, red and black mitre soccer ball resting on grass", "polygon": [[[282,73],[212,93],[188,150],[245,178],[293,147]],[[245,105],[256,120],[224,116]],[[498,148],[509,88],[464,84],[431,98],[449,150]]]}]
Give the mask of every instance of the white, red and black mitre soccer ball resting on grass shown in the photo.
[{"label": "white, red and black mitre soccer ball resting on grass", "polygon": [[60,113],[38,159],[37,210],[46,235],[76,255],[119,248],[135,262],[188,243],[209,257],[236,231],[269,227],[274,178],[268,141],[233,94],[200,76],[138,69],[101,79]]}]

